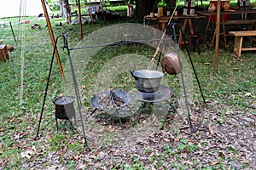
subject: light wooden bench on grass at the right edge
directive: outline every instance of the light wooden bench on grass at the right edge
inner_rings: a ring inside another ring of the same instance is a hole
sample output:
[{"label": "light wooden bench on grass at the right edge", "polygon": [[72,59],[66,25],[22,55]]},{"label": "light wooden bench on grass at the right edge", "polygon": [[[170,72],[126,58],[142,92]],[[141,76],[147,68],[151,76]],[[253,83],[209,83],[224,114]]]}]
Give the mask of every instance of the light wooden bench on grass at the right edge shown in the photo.
[{"label": "light wooden bench on grass at the right edge", "polygon": [[234,53],[241,57],[241,51],[253,51],[256,48],[242,48],[242,38],[243,37],[253,37],[256,36],[256,31],[229,31],[229,34],[235,36],[234,43]]}]

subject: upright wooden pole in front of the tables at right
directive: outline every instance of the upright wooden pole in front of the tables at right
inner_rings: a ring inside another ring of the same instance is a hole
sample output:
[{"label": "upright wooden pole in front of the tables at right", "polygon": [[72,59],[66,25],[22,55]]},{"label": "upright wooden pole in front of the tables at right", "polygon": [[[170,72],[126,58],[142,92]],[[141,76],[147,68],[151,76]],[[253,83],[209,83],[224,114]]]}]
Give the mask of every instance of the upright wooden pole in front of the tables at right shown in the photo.
[{"label": "upright wooden pole in front of the tables at right", "polygon": [[216,29],[215,29],[215,63],[214,71],[218,72],[218,48],[219,48],[219,27],[220,27],[220,0],[217,3],[217,20],[216,20]]}]

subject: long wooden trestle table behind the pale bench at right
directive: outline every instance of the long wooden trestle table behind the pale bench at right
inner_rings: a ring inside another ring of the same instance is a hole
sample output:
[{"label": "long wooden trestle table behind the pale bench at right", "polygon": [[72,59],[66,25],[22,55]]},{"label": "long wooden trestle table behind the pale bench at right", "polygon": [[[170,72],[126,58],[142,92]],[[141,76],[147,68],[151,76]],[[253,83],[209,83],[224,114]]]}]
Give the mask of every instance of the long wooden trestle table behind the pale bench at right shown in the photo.
[{"label": "long wooden trestle table behind the pale bench at right", "polygon": [[[207,36],[207,31],[208,31],[208,26],[209,26],[209,23],[211,21],[211,17],[216,15],[216,13],[209,13],[208,11],[195,11],[196,14],[201,14],[201,16],[206,16],[208,17],[208,21],[207,21],[207,27],[206,27],[206,31],[205,31],[205,37],[204,37],[204,41],[206,39],[206,36]],[[256,10],[253,10],[253,9],[250,9],[250,8],[242,8],[242,9],[237,9],[237,10],[234,10],[234,9],[230,9],[229,11],[222,11],[220,13],[221,15],[221,20],[220,20],[220,25],[223,27],[223,31],[224,31],[224,44],[225,44],[225,48],[226,48],[226,37],[225,37],[225,25],[231,25],[230,24],[230,21],[231,20],[227,20],[229,22],[226,23],[226,21],[224,20],[224,15],[225,14],[241,14],[241,20],[234,20],[231,24],[232,25],[241,25],[241,24],[247,24],[249,25],[249,29],[252,29],[252,24],[255,22],[255,20],[245,20],[245,17],[243,16],[247,16],[247,14],[256,14]],[[217,27],[217,26],[216,26]],[[212,48],[212,44],[215,40],[215,36],[216,36],[216,28],[215,28],[215,31],[214,31],[214,35],[212,37],[212,42],[210,44],[210,48]]]}]

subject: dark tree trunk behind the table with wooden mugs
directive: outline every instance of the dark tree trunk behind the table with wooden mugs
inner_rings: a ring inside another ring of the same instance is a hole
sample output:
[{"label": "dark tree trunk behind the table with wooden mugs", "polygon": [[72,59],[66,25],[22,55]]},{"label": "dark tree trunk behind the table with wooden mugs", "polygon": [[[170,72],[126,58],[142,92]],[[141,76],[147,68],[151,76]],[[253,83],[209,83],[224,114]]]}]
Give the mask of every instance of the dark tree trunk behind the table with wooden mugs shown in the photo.
[{"label": "dark tree trunk behind the table with wooden mugs", "polygon": [[[150,14],[154,11],[157,12],[156,4],[159,0],[136,0],[136,16],[139,23],[143,23],[145,15]],[[176,0],[166,0],[168,8],[174,8],[176,5]]]}]

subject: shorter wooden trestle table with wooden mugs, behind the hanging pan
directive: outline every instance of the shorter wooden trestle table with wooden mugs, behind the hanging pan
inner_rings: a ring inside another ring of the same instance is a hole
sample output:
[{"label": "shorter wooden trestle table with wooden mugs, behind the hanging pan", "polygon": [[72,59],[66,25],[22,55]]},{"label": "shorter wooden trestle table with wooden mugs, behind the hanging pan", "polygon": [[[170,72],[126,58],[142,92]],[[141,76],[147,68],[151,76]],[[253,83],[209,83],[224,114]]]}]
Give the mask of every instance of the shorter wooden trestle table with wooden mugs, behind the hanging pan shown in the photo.
[{"label": "shorter wooden trestle table with wooden mugs, behind the hanging pan", "polygon": [[[182,31],[184,32],[186,27],[189,24],[189,31],[190,31],[190,35],[195,35],[195,31],[192,25],[192,20],[196,20],[196,19],[202,19],[205,18],[206,16],[203,15],[199,15],[199,14],[191,14],[191,15],[177,15],[177,16],[173,16],[172,20],[182,20]],[[166,31],[166,26],[170,20],[171,16],[163,16],[163,17],[150,17],[150,16],[146,16],[145,20],[155,20],[158,21],[158,24],[161,25],[162,31]],[[183,42],[183,36],[180,33],[177,45],[180,46],[182,45]]]}]

